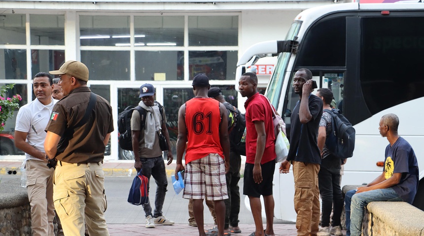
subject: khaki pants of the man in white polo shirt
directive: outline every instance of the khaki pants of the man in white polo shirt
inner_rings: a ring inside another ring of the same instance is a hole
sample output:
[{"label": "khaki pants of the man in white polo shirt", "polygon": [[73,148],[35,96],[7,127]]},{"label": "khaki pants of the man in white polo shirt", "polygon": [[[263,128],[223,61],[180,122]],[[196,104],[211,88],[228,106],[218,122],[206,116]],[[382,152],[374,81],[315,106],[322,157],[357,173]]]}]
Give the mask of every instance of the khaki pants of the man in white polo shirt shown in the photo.
[{"label": "khaki pants of the man in white polo shirt", "polygon": [[28,160],[25,167],[33,236],[54,236],[54,169],[49,169],[46,164],[41,160]]}]

